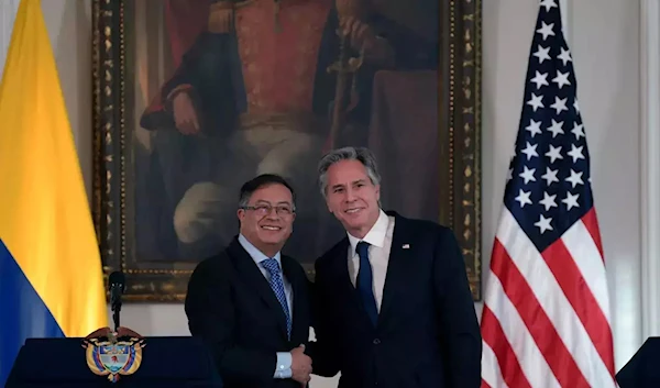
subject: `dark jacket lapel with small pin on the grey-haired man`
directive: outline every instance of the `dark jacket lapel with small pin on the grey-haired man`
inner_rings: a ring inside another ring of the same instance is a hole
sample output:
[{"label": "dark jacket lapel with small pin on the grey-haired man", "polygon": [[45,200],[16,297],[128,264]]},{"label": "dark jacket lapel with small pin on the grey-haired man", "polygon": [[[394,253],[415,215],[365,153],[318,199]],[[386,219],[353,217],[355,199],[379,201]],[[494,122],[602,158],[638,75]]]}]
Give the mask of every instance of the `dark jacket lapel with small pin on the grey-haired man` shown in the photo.
[{"label": "dark jacket lapel with small pin on the grey-haired man", "polygon": [[411,251],[410,246],[405,247],[411,241],[410,229],[407,228],[406,220],[396,213],[389,213],[388,215],[395,217],[395,224],[392,247],[389,248],[387,274],[385,275],[385,285],[383,287],[381,312],[378,313],[378,324],[386,318],[385,314],[387,314],[387,311],[392,307],[397,290],[406,287],[406,264],[409,263]]}]

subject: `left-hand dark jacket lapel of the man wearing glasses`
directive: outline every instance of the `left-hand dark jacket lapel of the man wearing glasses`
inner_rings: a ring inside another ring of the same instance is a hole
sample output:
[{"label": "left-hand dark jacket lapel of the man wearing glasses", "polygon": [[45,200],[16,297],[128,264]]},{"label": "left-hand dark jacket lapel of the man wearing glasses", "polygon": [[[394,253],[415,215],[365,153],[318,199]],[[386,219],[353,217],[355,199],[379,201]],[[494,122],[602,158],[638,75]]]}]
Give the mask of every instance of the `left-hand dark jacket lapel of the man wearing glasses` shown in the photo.
[{"label": "left-hand dark jacket lapel of the man wearing glasses", "polygon": [[271,308],[273,315],[279,324],[279,329],[282,329],[282,334],[286,339],[286,317],[268,280],[266,280],[252,257],[250,257],[250,254],[245,252],[238,240],[234,240],[230,244],[229,251],[235,258],[237,271],[245,279],[245,282],[254,287],[260,298]]}]

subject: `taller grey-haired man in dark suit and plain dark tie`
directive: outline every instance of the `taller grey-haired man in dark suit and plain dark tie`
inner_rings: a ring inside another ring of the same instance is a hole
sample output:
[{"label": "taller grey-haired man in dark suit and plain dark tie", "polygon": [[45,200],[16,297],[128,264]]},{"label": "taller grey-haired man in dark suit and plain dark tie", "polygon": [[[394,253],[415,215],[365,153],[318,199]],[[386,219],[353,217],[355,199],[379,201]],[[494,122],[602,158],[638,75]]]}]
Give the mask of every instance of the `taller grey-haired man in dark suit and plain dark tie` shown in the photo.
[{"label": "taller grey-haired man in dark suit and plain dark tie", "polygon": [[380,206],[366,148],[323,156],[346,237],[316,262],[315,374],[340,388],[479,388],[482,340],[461,250],[444,226]]}]

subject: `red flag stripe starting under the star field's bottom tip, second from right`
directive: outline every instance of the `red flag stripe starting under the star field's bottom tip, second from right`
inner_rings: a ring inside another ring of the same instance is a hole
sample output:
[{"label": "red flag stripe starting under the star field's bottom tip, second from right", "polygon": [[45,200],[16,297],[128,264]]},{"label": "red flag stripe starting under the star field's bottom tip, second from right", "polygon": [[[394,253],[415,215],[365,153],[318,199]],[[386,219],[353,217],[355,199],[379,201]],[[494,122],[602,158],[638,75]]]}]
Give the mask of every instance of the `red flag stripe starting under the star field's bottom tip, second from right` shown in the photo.
[{"label": "red flag stripe starting under the star field's bottom tip, second from right", "polygon": [[[584,239],[590,239],[590,236],[585,235]],[[607,370],[614,377],[613,340],[609,323],[588,285],[584,281],[574,258],[561,240],[548,246],[541,256],[580,318]]]}]

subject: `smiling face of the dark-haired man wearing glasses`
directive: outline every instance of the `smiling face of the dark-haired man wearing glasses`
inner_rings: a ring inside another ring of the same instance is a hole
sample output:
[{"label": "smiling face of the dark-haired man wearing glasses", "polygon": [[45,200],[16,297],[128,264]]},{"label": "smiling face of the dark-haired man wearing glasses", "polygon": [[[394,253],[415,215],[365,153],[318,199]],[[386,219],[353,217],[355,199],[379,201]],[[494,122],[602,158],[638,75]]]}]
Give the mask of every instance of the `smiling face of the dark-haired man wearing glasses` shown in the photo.
[{"label": "smiling face of the dark-haired man wearing glasses", "polygon": [[254,190],[245,209],[239,209],[241,234],[263,254],[273,257],[293,231],[293,196],[288,188],[271,184]]}]

